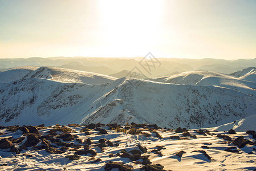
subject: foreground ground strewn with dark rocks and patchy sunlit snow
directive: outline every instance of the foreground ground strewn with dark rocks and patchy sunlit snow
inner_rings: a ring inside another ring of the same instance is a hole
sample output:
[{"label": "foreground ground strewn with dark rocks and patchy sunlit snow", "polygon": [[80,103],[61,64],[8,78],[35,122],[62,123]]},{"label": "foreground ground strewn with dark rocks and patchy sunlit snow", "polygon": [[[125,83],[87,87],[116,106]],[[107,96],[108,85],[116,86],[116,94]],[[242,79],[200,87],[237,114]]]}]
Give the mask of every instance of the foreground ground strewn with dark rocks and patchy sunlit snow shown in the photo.
[{"label": "foreground ground strewn with dark rocks and patchy sunlit snow", "polygon": [[157,125],[0,126],[0,170],[255,170],[256,132]]}]

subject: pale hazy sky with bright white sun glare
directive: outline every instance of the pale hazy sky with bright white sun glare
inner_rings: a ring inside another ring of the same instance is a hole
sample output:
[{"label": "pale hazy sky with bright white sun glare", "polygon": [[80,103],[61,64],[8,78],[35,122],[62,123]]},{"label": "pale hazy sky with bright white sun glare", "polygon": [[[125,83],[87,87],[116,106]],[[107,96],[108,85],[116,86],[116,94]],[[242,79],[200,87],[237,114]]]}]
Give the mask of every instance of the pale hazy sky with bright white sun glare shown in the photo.
[{"label": "pale hazy sky with bright white sun glare", "polygon": [[0,0],[0,58],[256,58],[256,1]]}]

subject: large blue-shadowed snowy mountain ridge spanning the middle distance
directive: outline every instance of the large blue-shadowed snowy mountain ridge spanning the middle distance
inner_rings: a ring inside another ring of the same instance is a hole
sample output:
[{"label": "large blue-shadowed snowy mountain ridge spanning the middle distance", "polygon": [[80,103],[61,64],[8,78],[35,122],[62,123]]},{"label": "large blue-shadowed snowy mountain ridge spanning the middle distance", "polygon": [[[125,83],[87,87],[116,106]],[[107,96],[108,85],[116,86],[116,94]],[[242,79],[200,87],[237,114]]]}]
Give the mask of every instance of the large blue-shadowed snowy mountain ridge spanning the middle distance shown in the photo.
[{"label": "large blue-shadowed snowy mountain ridge spanning the middle distance", "polygon": [[[42,67],[0,84],[0,125],[135,122],[202,128],[256,111],[254,96],[229,88],[79,73]],[[100,82],[108,83],[93,84]]]}]

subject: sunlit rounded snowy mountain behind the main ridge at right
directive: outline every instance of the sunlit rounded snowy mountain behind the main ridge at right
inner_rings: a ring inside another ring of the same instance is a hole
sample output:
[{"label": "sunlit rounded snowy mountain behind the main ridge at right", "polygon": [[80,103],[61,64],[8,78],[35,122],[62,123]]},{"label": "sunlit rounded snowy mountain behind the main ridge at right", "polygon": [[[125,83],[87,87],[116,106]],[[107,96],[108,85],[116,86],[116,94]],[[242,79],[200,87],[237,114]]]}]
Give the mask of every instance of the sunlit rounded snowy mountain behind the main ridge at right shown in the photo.
[{"label": "sunlit rounded snowy mountain behind the main ridge at right", "polygon": [[[247,78],[247,79],[246,79]],[[214,86],[235,91],[243,92],[249,95],[255,95],[256,92],[256,77],[254,74],[247,74],[241,78],[236,78],[233,75],[220,74],[209,71],[189,71],[181,74],[165,76],[160,78],[152,78],[149,80],[163,83],[173,84],[190,84],[194,86]],[[249,80],[250,78],[250,80]]]}]

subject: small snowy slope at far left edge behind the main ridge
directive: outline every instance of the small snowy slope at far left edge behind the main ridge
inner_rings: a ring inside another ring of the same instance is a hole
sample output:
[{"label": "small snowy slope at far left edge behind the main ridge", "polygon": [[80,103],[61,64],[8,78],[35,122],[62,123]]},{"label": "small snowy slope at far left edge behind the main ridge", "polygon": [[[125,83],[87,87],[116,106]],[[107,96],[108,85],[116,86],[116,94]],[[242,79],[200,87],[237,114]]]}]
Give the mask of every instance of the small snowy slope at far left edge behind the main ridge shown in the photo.
[{"label": "small snowy slope at far left edge behind the main ridge", "polygon": [[38,67],[33,66],[23,66],[0,71],[0,83],[10,83],[14,80],[21,79],[23,76],[29,74],[31,71],[34,71],[37,68]]}]

